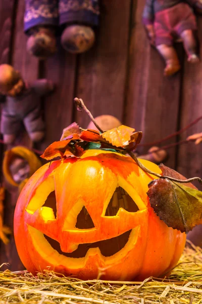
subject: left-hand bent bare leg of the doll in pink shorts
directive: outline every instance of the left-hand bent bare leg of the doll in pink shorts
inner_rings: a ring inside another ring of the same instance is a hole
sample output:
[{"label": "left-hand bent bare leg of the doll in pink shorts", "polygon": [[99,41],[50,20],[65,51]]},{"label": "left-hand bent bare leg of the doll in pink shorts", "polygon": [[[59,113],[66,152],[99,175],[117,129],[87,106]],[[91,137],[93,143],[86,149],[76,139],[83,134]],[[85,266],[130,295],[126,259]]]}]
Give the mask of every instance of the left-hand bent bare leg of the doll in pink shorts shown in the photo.
[{"label": "left-hand bent bare leg of the doll in pink shorts", "polygon": [[171,76],[180,69],[179,59],[177,57],[176,50],[173,46],[161,44],[157,46],[159,53],[162,55],[166,62],[166,68],[164,69],[165,76]]}]

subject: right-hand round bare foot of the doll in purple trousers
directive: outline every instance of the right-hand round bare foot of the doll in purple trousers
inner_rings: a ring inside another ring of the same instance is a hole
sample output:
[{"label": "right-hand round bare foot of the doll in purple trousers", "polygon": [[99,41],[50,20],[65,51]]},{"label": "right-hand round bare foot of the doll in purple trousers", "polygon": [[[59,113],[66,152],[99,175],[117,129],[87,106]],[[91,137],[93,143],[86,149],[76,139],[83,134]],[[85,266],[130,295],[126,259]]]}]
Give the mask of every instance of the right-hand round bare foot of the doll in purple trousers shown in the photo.
[{"label": "right-hand round bare foot of the doll in purple trousers", "polygon": [[85,25],[70,25],[61,36],[63,48],[73,54],[86,52],[92,47],[94,41],[94,31],[90,26]]}]

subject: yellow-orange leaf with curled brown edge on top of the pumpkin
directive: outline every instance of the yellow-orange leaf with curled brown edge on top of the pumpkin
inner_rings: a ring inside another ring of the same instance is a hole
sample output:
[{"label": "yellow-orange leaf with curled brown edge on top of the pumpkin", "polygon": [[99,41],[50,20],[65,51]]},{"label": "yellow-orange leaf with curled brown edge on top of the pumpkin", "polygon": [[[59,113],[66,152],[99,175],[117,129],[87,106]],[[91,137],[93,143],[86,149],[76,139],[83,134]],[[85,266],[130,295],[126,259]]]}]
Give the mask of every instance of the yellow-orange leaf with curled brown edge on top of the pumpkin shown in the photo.
[{"label": "yellow-orange leaf with curled brown edge on top of the pumpkin", "polygon": [[104,132],[101,136],[116,147],[132,149],[140,142],[142,132],[135,132],[135,129],[122,125]]}]

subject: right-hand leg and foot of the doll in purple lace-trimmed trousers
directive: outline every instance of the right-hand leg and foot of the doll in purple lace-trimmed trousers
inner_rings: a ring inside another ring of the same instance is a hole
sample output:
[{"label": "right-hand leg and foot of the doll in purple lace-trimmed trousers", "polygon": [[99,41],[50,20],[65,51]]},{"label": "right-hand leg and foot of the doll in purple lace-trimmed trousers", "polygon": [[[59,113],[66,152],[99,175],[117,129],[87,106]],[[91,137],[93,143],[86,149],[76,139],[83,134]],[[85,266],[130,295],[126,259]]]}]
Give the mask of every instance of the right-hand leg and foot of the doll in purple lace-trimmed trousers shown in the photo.
[{"label": "right-hand leg and foot of the doll in purple lace-trimmed trousers", "polygon": [[99,0],[59,1],[60,24],[65,26],[61,43],[70,53],[83,53],[89,50],[95,40],[92,27],[98,25]]}]

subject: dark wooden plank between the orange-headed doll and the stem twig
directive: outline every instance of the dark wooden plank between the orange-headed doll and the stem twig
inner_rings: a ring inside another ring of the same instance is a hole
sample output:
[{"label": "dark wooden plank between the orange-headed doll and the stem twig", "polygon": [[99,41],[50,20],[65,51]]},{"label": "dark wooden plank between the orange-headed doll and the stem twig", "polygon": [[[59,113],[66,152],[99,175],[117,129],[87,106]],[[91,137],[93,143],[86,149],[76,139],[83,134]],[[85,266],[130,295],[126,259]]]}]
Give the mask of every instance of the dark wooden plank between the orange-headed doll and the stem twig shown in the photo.
[{"label": "dark wooden plank between the orange-headed doll and the stem twig", "polygon": [[72,122],[75,70],[76,56],[67,53],[60,45],[58,53],[45,63],[45,78],[52,80],[56,88],[44,98],[46,136],[37,145],[42,150],[60,140],[63,129]]}]

